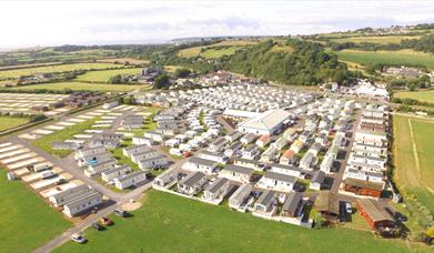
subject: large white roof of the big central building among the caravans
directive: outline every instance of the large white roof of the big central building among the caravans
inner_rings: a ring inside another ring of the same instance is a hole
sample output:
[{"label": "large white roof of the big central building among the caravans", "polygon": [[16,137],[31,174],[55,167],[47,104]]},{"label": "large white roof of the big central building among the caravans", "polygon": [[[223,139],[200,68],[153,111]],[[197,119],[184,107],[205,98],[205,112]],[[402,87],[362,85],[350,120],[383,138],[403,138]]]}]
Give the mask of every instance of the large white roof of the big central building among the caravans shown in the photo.
[{"label": "large white roof of the big central building among the caravans", "polygon": [[272,130],[287,118],[291,113],[286,112],[283,109],[270,110],[261,113],[260,115],[250,119],[240,125],[243,128],[260,129],[260,130]]}]

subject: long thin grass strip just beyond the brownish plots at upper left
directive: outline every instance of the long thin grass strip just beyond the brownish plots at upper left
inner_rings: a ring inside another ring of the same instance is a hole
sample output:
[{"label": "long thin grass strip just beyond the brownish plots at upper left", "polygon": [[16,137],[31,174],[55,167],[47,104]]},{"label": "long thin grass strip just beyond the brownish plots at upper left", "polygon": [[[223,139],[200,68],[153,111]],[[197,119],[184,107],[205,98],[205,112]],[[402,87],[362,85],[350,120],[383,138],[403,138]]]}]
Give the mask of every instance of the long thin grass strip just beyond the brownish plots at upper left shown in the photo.
[{"label": "long thin grass strip just beyond the brownish plots at upper left", "polygon": [[127,92],[137,89],[149,89],[148,84],[95,84],[85,82],[57,82],[57,83],[42,83],[24,87],[12,87],[12,90],[88,90],[88,91],[112,91],[112,92]]}]

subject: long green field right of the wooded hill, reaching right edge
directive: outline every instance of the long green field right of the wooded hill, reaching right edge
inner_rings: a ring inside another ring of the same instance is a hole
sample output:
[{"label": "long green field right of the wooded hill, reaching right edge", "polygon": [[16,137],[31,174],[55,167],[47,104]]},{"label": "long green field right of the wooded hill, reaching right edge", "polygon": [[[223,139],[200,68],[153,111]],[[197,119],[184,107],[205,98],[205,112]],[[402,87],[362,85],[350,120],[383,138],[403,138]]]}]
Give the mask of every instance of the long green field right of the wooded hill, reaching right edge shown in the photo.
[{"label": "long green field right of the wooded hill, reaching right edge", "polygon": [[360,51],[342,50],[336,52],[340,60],[362,63],[362,64],[405,64],[405,65],[424,65],[434,69],[434,55],[430,53],[415,52],[412,50],[397,51]]}]

